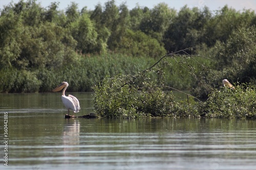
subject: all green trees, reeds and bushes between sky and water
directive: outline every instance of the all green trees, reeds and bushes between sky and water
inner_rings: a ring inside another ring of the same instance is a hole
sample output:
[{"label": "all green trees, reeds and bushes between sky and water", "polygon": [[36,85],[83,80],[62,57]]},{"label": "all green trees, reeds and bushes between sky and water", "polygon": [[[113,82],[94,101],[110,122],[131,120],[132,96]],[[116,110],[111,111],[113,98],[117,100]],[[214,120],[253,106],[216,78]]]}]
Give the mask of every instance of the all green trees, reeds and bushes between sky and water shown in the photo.
[{"label": "all green trees, reeds and bushes between sky and water", "polygon": [[[58,10],[28,0],[0,12],[0,92],[50,92],[67,81],[70,91],[95,91],[102,117],[255,117],[253,10],[128,9],[114,0]],[[236,90],[221,88],[223,79]],[[174,89],[192,96],[176,101]]]}]

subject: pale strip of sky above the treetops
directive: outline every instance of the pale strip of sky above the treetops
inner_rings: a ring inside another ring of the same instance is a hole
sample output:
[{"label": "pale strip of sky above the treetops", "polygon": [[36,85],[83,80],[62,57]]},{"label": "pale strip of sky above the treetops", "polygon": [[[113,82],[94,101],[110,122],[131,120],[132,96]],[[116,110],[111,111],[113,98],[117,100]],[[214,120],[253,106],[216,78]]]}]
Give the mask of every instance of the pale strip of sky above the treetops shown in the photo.
[{"label": "pale strip of sky above the treetops", "polygon": [[[25,2],[27,0],[24,0]],[[105,2],[109,0],[37,0],[37,3],[40,3],[42,7],[48,7],[51,5],[51,2],[59,2],[58,10],[66,10],[66,8],[75,2],[78,4],[79,10],[87,6],[89,10],[94,10],[97,4],[104,6]],[[19,0],[0,0],[0,9],[3,9],[4,6],[9,3],[17,3]],[[180,8],[187,5],[189,8],[198,7],[203,8],[207,6],[211,11],[219,10],[225,5],[228,5],[230,8],[242,11],[243,9],[256,10],[256,0],[115,0],[116,5],[119,6],[122,3],[126,2],[127,7],[131,10],[138,4],[141,7],[153,8],[159,3],[165,3],[169,8],[175,8],[180,10]]]}]

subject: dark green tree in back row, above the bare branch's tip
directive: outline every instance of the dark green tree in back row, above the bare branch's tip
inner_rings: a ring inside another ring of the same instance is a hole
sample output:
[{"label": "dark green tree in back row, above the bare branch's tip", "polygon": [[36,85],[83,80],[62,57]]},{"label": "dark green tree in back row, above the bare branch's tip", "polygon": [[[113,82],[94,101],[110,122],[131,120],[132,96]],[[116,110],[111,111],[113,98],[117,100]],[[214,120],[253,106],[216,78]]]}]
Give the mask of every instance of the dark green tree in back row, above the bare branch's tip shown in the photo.
[{"label": "dark green tree in back row, above the bare branch's tip", "polygon": [[165,49],[169,52],[200,45],[205,36],[205,25],[211,14],[208,8],[200,11],[184,6],[165,32]]}]

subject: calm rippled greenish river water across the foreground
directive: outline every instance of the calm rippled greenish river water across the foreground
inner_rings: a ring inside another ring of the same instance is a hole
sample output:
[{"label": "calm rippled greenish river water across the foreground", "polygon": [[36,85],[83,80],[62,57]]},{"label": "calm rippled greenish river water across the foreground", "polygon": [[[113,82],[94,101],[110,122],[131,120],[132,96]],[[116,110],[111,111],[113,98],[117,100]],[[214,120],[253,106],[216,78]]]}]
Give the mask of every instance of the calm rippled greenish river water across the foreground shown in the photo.
[{"label": "calm rippled greenish river water across the foreground", "polygon": [[[71,94],[93,111],[91,93]],[[65,119],[60,93],[0,96],[0,169],[256,169],[255,120]]]}]

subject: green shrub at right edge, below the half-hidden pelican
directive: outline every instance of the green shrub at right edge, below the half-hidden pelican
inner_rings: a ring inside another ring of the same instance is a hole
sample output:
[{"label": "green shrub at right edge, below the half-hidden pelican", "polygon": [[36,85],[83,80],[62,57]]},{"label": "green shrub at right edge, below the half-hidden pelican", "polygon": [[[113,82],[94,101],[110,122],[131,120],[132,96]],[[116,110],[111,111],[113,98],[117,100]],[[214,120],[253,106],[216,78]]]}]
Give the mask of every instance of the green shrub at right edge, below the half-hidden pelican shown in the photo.
[{"label": "green shrub at right edge, below the half-hidden pelican", "polygon": [[256,118],[255,85],[242,84],[236,89],[214,89],[206,102],[200,103],[199,111],[206,117]]}]

